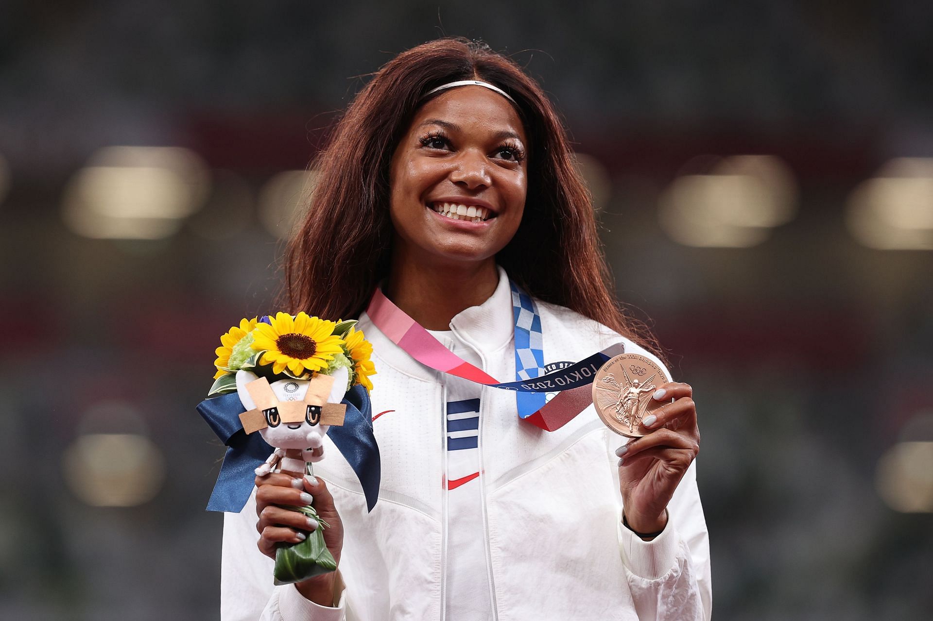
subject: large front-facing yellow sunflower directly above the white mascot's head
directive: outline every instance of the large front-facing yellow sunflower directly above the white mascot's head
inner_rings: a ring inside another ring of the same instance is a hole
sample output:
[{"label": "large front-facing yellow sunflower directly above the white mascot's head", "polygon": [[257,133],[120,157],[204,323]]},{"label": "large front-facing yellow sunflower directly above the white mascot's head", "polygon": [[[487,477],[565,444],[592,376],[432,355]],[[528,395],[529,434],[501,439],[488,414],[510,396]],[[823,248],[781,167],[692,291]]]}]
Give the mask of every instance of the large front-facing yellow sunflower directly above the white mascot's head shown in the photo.
[{"label": "large front-facing yellow sunflower directly above the white mascot's head", "polygon": [[296,377],[305,370],[320,371],[343,351],[343,340],[333,335],[334,322],[309,317],[303,311],[294,319],[287,312],[277,312],[269,321],[257,324],[252,347],[265,350],[259,362],[272,364],[273,373],[282,373],[286,367]]}]

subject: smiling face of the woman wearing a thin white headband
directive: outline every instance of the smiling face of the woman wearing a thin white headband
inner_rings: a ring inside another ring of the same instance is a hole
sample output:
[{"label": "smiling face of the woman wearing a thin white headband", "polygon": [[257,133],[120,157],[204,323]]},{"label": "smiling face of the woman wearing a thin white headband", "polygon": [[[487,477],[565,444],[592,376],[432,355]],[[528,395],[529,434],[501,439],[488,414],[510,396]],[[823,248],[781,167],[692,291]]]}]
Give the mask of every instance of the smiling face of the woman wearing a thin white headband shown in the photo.
[{"label": "smiling face of the woman wearing a thin white headband", "polygon": [[494,257],[522,222],[526,145],[493,90],[455,88],[422,106],[392,158],[396,252],[432,265]]}]

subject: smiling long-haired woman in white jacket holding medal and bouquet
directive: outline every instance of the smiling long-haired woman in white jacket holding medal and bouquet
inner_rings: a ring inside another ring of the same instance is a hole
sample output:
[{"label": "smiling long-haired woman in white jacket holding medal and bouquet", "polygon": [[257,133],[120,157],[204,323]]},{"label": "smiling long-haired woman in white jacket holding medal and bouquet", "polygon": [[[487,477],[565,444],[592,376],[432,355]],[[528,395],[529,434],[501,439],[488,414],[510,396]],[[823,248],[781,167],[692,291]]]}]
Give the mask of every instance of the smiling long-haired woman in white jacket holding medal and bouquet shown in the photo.
[{"label": "smiling long-haired woman in white jacket holding medal and bouquet", "polygon": [[[224,618],[708,619],[689,385],[662,385],[658,431],[623,447],[592,407],[543,431],[519,420],[516,393],[416,362],[365,312],[383,281],[450,351],[507,381],[523,289],[537,366],[613,343],[653,358],[609,293],[589,195],[536,83],[466,40],[413,48],[357,95],[315,168],[286,291],[293,311],[359,316],[373,344],[380,500],[367,513],[333,447],[320,476],[258,477],[225,520]],[[275,545],[315,527],[276,505],[309,496],[340,571],[273,589]]]}]

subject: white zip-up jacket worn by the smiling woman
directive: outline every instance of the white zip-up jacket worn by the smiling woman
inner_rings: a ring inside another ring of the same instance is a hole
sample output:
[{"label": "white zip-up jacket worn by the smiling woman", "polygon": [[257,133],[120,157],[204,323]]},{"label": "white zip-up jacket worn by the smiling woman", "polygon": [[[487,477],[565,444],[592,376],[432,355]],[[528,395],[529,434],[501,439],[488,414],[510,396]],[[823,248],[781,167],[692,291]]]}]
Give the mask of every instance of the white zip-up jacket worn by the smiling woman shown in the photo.
[{"label": "white zip-up jacket worn by the smiling woman", "polygon": [[[537,302],[545,364],[577,362],[608,345],[650,353],[564,307]],[[344,528],[337,608],[304,600],[294,586],[272,586],[272,559],[259,553],[256,504],[225,514],[221,618],[378,621],[443,619],[447,558],[444,485],[446,429],[442,374],[386,338],[366,314],[359,328],[373,345],[372,411],[382,456],[379,502],[366,500],[349,464],[327,441],[314,465],[327,480]],[[493,297],[451,322],[483,370],[515,378],[508,277]],[[660,361],[658,361],[659,364]],[[494,618],[709,619],[709,542],[695,463],[668,505],[666,529],[644,542],[621,526],[615,449],[592,406],[556,432],[519,421],[515,395],[482,388],[480,480]],[[459,619],[447,621],[460,621]]]}]

